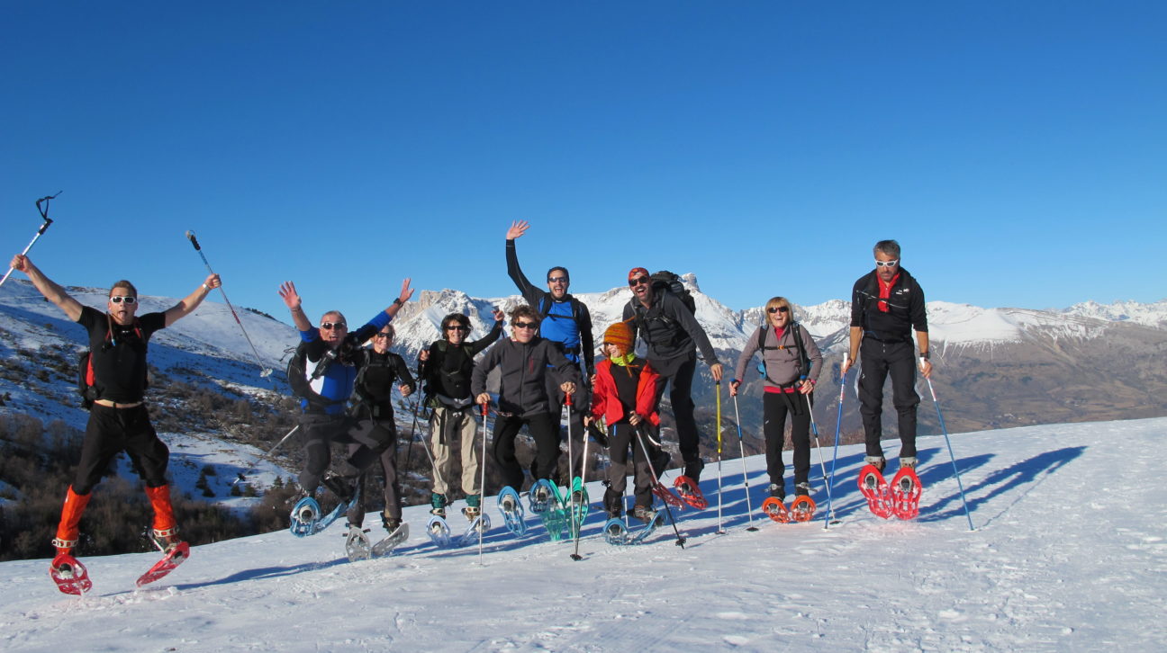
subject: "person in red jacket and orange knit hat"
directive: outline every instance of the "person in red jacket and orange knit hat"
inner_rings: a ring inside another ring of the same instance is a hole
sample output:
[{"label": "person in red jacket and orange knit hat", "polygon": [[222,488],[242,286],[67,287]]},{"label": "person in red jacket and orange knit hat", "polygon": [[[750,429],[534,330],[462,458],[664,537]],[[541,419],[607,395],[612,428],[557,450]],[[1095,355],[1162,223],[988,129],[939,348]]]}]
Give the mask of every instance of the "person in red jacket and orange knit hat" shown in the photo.
[{"label": "person in red jacket and orange knit hat", "polygon": [[[623,513],[628,449],[631,447],[636,498],[633,515],[650,521],[652,472],[659,475],[664,461],[668,461],[668,455],[658,444],[661,416],[657,414],[657,384],[661,375],[647,360],[636,358],[633,330],[624,322],[617,322],[603,332],[603,353],[607,358],[595,366],[592,380],[592,415],[588,417],[588,423],[605,420],[608,426],[612,466],[608,468],[603,507],[614,518]],[[644,457],[645,449],[651,456],[651,469]]]}]

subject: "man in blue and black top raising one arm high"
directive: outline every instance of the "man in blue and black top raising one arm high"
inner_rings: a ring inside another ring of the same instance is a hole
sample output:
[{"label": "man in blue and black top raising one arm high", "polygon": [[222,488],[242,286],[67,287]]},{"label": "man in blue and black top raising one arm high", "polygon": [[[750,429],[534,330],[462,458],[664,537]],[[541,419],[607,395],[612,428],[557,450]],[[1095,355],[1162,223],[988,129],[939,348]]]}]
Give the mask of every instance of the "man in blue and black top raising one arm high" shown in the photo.
[{"label": "man in blue and black top raising one arm high", "polygon": [[[585,379],[591,379],[595,373],[595,345],[592,340],[592,314],[587,304],[567,293],[571,287],[571,276],[566,267],[553,267],[547,271],[547,289],[543,290],[523,274],[518,267],[518,253],[515,248],[515,240],[522,238],[530,229],[526,220],[511,223],[506,230],[506,274],[523,294],[527,306],[539,313],[539,337],[550,340],[567,360],[579,367],[584,361]],[[568,379],[562,378],[553,368],[547,374],[547,396],[552,399],[548,410],[552,415],[552,423],[559,423],[561,414],[560,406],[564,405],[564,393],[559,389]],[[567,483],[575,476],[580,476],[581,458],[584,457],[584,415],[587,413],[588,396],[587,388],[582,384],[575,387],[572,395],[572,406],[568,413],[572,433],[572,461],[567,470]]]}]

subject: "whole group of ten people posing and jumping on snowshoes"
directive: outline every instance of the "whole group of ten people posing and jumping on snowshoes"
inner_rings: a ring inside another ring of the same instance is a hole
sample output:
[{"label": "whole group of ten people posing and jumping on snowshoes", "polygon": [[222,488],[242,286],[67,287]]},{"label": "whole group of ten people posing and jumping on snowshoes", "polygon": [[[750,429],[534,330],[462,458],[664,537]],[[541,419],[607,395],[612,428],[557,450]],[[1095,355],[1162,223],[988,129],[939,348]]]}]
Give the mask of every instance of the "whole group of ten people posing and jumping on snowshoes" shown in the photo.
[{"label": "whole group of ten people posing and jumping on snowshoes", "polygon": [[[628,274],[631,299],[623,320],[603,332],[601,360],[595,360],[592,318],[587,306],[568,293],[571,276],[565,267],[547,271],[546,290],[532,283],[518,262],[516,240],[530,225],[512,223],[506,231],[508,273],[525,300],[510,313],[511,332],[502,338],[504,314],[494,313],[495,324],[481,339],[470,340],[470,321],[460,313],[441,321],[440,338],[419,356],[418,378],[405,360],[390,351],[391,324],[413,289],[406,279],[397,299],[357,329],[350,330],[344,315],[324,313],[313,324],[303,310],[295,285],[285,282],[280,297],[300,331],[296,357],[302,363],[299,387],[299,429],[306,462],[298,483],[305,496],[323,484],[343,500],[362,486],[369,468],[380,462],[385,472],[383,525],[393,532],[401,522],[400,487],[396,473],[397,428],[390,401],[393,388],[408,396],[422,385],[424,405],[429,410],[428,450],[432,451],[432,512],[445,515],[454,478],[455,443],[461,449],[461,491],[468,518],[481,511],[481,465],[476,440],[476,414],[491,403],[487,378],[499,370],[495,406],[492,457],[503,480],[520,490],[524,465],[516,457],[515,440],[523,426],[536,443],[529,470],[531,479],[555,479],[560,458],[561,410],[568,406],[568,431],[573,442],[567,478],[579,476],[584,438],[593,434],[606,445],[612,461],[603,506],[612,515],[623,513],[629,461],[634,477],[634,508],[638,518],[651,518],[652,483],[670,457],[661,447],[659,405],[669,392],[684,475],[700,480],[704,463],[693,417],[692,382],[698,352],[720,382],[722,366],[694,310],[683,297],[661,283],[643,267]],[[900,265],[900,246],[881,240],[873,250],[875,268],[852,289],[848,358],[841,373],[861,361],[859,399],[866,434],[866,459],[883,469],[881,410],[883,384],[892,377],[893,403],[899,415],[902,441],[900,464],[916,463],[915,392],[917,359],[929,377],[928,323],[924,296],[918,282]],[[70,555],[77,543],[78,525],[93,486],[111,459],[125,450],[146,484],[154,508],[153,534],[160,547],[180,539],[166,482],[168,450],[151,426],[145,405],[146,349],[149,336],[189,315],[221,285],[210,274],[189,296],[163,313],[138,316],[137,289],[118,281],[110,289],[106,311],[83,307],[57,283],[41,273],[26,255],[16,255],[12,267],[23,272],[50,302],[89,331],[92,350],[96,400],[86,424],[81,464],[67,492],[54,546],[58,559]],[[915,342],[913,345],[913,331]],[[636,354],[636,342],[644,357]],[[475,361],[475,357],[485,352]],[[815,384],[823,370],[823,356],[806,329],[795,321],[794,306],[782,296],[766,303],[766,323],[757,328],[739,357],[729,393],[738,394],[748,374],[750,359],[759,354],[763,377],[763,434],[769,492],[785,497],[783,433],[787,417],[794,443],[794,490],[810,493],[810,410]],[[289,379],[292,381],[292,379]],[[298,387],[296,382],[292,382]],[[343,461],[331,466],[333,444],[347,444]],[[363,496],[363,493],[362,493]],[[359,526],[364,501],[354,503],[349,522]]]}]

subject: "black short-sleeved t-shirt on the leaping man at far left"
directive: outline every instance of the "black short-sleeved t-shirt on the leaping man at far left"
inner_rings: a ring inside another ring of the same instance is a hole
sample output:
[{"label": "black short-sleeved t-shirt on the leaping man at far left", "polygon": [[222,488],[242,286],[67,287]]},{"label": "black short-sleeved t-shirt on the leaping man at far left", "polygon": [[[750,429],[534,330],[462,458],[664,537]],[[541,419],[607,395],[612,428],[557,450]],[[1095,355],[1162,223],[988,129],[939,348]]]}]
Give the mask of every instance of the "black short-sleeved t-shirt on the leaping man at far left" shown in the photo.
[{"label": "black short-sleeved t-shirt on the leaping man at far left", "polygon": [[89,331],[98,399],[117,403],[141,401],[146,394],[146,343],[154,331],[166,328],[166,315],[147,313],[123,326],[95,308],[82,307],[77,323]]}]

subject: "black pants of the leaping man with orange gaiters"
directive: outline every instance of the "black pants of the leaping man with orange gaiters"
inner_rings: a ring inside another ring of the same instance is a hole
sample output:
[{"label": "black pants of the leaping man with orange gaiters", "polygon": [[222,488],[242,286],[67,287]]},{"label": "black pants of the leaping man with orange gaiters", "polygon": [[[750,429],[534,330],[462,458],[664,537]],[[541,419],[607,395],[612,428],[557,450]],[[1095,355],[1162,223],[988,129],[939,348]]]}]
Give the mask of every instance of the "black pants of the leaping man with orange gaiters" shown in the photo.
[{"label": "black pants of the leaping man with orange gaiters", "polygon": [[113,457],[125,451],[134,471],[147,487],[166,485],[166,465],[170,450],[158,438],[149,423],[146,405],[133,408],[111,408],[95,403],[85,424],[85,440],[81,445],[81,462],[74,476],[72,489],[77,494],[89,494],[110,469]]}]

